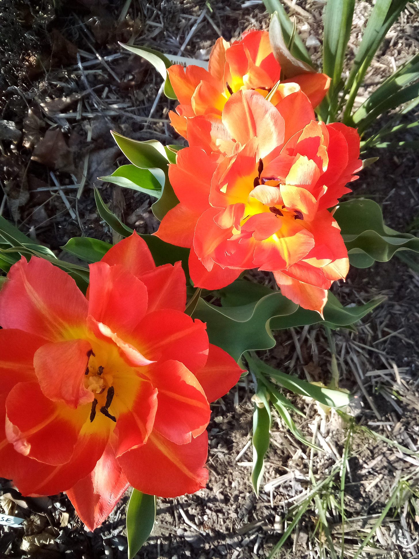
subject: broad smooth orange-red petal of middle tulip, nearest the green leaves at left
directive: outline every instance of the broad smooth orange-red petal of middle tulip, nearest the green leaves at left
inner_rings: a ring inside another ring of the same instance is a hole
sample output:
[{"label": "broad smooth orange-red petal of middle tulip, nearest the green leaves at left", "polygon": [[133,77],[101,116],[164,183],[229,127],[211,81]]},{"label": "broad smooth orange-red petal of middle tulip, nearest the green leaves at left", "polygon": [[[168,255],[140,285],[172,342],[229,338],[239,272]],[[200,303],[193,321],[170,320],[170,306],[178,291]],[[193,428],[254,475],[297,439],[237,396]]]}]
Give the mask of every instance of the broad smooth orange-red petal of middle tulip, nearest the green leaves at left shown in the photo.
[{"label": "broad smooth orange-red petal of middle tulip, nearest the green leaves at left", "polygon": [[207,155],[196,147],[178,151],[176,164],[169,165],[169,179],[183,206],[201,214],[207,209],[216,167],[216,154]]}]

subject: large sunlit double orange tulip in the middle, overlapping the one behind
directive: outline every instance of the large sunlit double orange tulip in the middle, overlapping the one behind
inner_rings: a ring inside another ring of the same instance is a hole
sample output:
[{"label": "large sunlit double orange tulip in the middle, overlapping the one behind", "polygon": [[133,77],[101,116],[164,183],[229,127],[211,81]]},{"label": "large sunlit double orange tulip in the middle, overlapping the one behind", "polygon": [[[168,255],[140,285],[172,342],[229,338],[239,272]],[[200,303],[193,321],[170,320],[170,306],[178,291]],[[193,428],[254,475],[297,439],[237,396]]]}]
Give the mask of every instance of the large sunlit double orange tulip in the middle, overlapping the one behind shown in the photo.
[{"label": "large sunlit double orange tulip in the middle, overlapping the one behind", "polygon": [[239,91],[221,119],[197,116],[187,130],[190,147],[169,167],[180,203],[156,235],[191,248],[196,286],[221,288],[257,267],[272,271],[289,299],[322,315],[327,289],[349,268],[327,209],[358,178],[358,132],[316,122],[301,91],[276,107]]}]

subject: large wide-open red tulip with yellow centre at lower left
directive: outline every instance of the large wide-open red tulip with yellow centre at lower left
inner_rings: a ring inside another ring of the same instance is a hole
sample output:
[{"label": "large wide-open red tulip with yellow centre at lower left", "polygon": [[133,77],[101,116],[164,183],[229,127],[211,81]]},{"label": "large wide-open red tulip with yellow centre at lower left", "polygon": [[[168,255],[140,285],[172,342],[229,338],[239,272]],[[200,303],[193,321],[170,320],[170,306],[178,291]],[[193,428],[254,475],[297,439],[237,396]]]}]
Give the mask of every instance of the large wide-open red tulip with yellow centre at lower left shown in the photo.
[{"label": "large wide-open red tulip with yellow centre at lower left", "polygon": [[0,292],[0,476],[23,495],[66,491],[91,530],[128,484],[204,487],[208,401],[240,368],[184,314],[180,262],[156,267],[137,234],[90,266],[85,297],[41,258]]}]

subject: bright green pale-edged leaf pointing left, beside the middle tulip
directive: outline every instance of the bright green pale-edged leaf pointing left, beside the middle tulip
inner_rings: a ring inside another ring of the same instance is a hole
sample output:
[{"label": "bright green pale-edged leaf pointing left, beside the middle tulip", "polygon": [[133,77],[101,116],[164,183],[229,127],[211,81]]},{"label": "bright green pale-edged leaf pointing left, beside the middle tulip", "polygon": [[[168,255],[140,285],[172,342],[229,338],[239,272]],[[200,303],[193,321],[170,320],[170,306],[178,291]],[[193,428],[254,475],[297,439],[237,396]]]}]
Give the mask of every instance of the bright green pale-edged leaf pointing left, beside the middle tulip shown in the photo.
[{"label": "bright green pale-edged leaf pointing left, beside the middle tulip", "polygon": [[166,177],[161,169],[140,169],[135,165],[122,165],[111,175],[99,177],[101,181],[111,182],[123,188],[131,188],[160,198]]}]

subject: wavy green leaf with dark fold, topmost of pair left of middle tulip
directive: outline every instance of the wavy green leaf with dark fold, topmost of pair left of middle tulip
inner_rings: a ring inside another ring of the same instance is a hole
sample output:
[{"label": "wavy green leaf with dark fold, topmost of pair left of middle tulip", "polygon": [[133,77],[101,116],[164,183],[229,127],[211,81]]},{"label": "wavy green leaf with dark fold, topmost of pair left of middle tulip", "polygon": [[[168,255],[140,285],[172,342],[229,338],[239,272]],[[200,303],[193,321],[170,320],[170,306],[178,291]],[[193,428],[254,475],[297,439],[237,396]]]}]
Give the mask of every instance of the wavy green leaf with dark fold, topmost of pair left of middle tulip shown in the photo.
[{"label": "wavy green leaf with dark fold, topmost of pair left of middle tulip", "polygon": [[163,170],[165,175],[163,192],[159,200],[151,206],[153,214],[159,220],[163,219],[167,212],[179,202],[169,181],[169,160],[163,144],[157,140],[131,140],[121,134],[117,134],[117,132],[112,132],[112,136],[125,157],[136,167],[149,169],[150,171],[154,169]]}]

